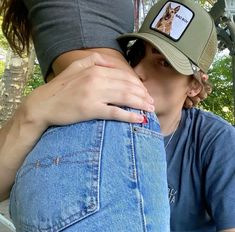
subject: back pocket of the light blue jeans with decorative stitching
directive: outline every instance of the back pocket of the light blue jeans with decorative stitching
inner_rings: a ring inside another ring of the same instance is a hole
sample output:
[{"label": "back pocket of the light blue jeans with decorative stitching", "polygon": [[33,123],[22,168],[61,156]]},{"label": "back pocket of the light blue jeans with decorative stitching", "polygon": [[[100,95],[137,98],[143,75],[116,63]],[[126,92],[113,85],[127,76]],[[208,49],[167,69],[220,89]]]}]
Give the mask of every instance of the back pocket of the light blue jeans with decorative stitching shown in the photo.
[{"label": "back pocket of the light blue jeans with decorative stitching", "polygon": [[61,231],[99,210],[102,140],[101,120],[44,133],[12,189],[17,231]]}]

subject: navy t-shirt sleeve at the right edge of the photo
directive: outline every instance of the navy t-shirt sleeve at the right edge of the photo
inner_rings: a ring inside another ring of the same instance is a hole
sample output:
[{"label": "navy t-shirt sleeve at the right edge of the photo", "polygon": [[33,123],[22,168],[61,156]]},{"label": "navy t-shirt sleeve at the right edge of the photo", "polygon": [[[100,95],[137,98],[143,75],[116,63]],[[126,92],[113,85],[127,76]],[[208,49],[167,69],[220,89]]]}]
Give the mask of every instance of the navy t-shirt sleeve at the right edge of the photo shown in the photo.
[{"label": "navy t-shirt sleeve at the right edge of the photo", "polygon": [[205,150],[205,199],[216,229],[235,228],[235,129],[223,125]]}]

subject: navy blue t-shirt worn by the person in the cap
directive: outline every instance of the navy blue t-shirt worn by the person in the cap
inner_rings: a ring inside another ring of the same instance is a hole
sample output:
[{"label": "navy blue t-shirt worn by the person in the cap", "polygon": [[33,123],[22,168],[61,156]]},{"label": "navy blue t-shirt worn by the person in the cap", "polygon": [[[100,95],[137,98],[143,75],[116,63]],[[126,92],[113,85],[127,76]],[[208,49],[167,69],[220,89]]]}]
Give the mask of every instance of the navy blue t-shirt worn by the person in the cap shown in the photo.
[{"label": "navy blue t-shirt worn by the person in the cap", "polygon": [[166,153],[171,231],[235,228],[235,129],[212,113],[183,110]]}]

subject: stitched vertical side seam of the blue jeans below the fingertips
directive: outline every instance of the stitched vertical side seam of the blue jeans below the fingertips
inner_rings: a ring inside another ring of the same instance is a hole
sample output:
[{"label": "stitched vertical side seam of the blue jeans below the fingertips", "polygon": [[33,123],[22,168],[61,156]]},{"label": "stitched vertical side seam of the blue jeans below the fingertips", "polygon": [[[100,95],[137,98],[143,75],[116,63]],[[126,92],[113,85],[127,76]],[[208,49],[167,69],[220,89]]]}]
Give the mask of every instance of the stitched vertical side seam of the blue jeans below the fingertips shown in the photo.
[{"label": "stitched vertical side seam of the blue jeans below the fingertips", "polygon": [[136,149],[135,149],[135,146],[134,146],[134,130],[132,128],[132,125],[130,124],[130,129],[131,129],[131,147],[132,147],[132,161],[133,161],[133,167],[135,169],[135,178],[136,178],[136,185],[137,185],[137,191],[138,191],[138,194],[139,194],[139,206],[140,206],[140,215],[141,215],[141,218],[142,218],[142,226],[143,226],[143,232],[146,232],[147,229],[146,229],[146,220],[145,220],[145,216],[144,216],[144,207],[143,207],[143,197],[142,197],[142,194],[141,194],[141,191],[140,191],[140,184],[139,184],[139,178],[138,178],[138,172],[137,172],[137,162],[136,162]]}]

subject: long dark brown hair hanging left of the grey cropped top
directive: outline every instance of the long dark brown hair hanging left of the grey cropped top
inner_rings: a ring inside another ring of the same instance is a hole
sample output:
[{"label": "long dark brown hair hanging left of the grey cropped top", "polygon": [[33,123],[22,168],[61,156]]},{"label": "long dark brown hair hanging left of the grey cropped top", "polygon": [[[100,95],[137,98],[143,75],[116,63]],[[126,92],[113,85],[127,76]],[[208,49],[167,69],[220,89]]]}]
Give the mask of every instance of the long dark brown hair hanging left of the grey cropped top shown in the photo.
[{"label": "long dark brown hair hanging left of the grey cropped top", "polygon": [[2,31],[10,47],[18,55],[29,52],[31,33],[28,11],[22,0],[1,0]]}]

